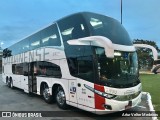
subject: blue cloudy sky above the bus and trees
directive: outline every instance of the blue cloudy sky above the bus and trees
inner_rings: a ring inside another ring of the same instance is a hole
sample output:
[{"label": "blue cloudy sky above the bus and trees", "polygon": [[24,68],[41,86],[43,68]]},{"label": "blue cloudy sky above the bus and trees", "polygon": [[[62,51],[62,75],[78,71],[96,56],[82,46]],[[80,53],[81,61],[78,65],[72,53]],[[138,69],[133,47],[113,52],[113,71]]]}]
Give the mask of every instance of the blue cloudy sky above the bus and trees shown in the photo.
[{"label": "blue cloudy sky above the bus and trees", "polygon": [[[0,0],[2,48],[72,13],[90,11],[120,21],[120,0]],[[160,0],[123,0],[123,25],[132,39],[160,47]]]}]

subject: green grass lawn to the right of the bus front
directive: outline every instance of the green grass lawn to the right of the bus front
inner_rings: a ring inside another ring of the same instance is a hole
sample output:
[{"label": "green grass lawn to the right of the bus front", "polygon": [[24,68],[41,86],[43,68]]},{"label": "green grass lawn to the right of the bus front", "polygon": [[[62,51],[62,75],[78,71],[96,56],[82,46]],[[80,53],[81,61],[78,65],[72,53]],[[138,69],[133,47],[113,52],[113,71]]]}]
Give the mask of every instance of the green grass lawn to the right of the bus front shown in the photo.
[{"label": "green grass lawn to the right of the bus front", "polygon": [[160,112],[160,74],[141,74],[142,90],[149,92],[155,111]]}]

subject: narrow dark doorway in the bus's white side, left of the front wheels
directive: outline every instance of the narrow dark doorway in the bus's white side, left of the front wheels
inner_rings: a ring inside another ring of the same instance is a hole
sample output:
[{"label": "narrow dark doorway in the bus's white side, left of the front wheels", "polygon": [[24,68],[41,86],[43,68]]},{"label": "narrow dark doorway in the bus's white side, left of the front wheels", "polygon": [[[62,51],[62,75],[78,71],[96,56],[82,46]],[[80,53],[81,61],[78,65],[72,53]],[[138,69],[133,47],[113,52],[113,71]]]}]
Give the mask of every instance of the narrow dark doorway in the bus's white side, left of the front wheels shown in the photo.
[{"label": "narrow dark doorway in the bus's white side, left of the front wheels", "polygon": [[28,74],[28,87],[29,92],[37,92],[37,63],[29,63],[29,74]]}]

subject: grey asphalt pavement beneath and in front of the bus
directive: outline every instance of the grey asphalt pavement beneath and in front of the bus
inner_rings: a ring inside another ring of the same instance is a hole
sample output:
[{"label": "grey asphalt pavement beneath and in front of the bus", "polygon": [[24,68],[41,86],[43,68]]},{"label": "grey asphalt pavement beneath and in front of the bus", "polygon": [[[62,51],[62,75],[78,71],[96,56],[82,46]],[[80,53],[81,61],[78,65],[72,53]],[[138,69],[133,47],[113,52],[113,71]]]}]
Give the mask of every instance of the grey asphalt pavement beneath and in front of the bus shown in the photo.
[{"label": "grey asphalt pavement beneath and in front of the bus", "polygon": [[[55,117],[43,117],[43,118],[2,118],[0,120],[152,120],[151,117],[122,117],[117,116],[117,113],[107,114],[103,116],[94,115],[92,113],[81,111],[74,107],[69,107],[67,110],[61,110],[57,107],[56,103],[47,104],[38,95],[28,95],[23,90],[14,88],[8,88],[1,80],[0,75],[0,111],[53,111]],[[142,102],[127,112],[140,112],[149,111],[147,103],[147,96],[142,96]],[[123,114],[122,112],[118,112]],[[112,117],[111,117],[112,116]],[[113,117],[114,116],[114,117]]]}]

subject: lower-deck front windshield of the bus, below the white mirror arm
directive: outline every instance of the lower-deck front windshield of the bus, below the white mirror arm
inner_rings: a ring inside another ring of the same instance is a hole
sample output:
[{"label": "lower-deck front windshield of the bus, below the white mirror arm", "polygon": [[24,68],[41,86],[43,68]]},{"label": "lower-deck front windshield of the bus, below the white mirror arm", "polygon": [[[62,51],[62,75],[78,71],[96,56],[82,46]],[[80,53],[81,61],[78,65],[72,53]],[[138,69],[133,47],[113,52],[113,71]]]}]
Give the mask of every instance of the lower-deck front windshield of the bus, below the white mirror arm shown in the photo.
[{"label": "lower-deck front windshield of the bus, below the white mirror arm", "polygon": [[104,48],[96,47],[98,83],[110,87],[132,87],[139,83],[136,52],[115,51],[114,58],[107,58]]}]

